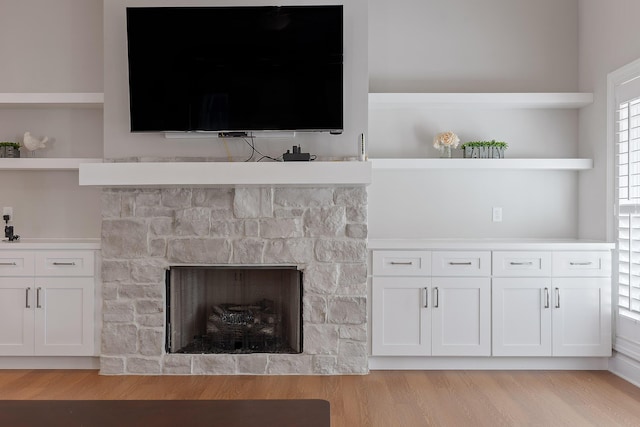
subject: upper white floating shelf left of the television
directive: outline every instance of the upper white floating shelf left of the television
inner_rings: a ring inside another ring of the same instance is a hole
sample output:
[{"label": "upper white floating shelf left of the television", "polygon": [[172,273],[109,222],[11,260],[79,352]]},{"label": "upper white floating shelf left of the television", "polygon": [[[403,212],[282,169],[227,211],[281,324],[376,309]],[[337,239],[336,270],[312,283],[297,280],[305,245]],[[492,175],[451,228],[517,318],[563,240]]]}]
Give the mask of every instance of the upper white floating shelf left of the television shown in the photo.
[{"label": "upper white floating shelf left of the television", "polygon": [[103,93],[0,93],[0,107],[101,108]]}]

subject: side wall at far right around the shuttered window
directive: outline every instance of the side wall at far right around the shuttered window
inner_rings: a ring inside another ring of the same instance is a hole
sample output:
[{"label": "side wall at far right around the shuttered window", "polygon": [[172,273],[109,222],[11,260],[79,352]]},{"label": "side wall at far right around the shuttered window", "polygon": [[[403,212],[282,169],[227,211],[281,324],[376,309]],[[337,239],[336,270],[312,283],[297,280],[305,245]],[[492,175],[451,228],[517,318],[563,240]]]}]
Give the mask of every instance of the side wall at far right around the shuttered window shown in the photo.
[{"label": "side wall at far right around the shuttered window", "polygon": [[580,90],[594,92],[593,105],[580,113],[580,155],[595,160],[595,168],[580,177],[583,238],[611,239],[611,201],[606,202],[607,190],[613,188],[607,180],[607,74],[640,58],[638,16],[637,0],[580,0]]}]

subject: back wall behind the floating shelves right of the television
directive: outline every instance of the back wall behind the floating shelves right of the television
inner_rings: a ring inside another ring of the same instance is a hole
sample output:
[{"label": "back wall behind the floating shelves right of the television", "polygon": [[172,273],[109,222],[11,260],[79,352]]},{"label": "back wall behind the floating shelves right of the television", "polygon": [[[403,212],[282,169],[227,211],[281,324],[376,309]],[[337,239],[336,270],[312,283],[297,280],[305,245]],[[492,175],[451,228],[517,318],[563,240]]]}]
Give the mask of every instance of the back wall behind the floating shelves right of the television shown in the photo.
[{"label": "back wall behind the floating shelves right of the television", "polygon": [[[371,92],[576,91],[578,1],[370,0],[369,75]],[[578,153],[577,111],[407,109],[370,112],[369,156],[438,157],[445,130],[507,157]],[[574,238],[577,192],[573,172],[378,171],[369,236]]]}]

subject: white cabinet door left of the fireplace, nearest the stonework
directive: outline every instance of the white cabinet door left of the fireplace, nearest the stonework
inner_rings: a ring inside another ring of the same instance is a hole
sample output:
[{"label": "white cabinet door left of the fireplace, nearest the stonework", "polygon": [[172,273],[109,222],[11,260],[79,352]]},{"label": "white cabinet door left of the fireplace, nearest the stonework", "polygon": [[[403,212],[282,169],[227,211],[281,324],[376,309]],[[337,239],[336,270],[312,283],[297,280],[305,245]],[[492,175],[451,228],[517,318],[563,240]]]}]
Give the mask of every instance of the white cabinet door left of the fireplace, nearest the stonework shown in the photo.
[{"label": "white cabinet door left of the fireplace, nearest the stonework", "polygon": [[35,354],[93,355],[93,279],[36,278]]}]

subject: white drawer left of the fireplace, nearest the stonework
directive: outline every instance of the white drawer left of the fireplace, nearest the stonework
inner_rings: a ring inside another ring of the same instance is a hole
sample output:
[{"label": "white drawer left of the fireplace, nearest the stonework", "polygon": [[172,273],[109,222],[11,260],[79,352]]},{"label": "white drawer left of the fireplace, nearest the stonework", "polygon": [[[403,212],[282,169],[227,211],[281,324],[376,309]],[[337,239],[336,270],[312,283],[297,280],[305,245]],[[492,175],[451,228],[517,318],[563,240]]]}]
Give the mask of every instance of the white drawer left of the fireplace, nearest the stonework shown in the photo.
[{"label": "white drawer left of the fireplace, nearest the stonework", "polygon": [[36,253],[36,276],[93,276],[93,251]]}]

